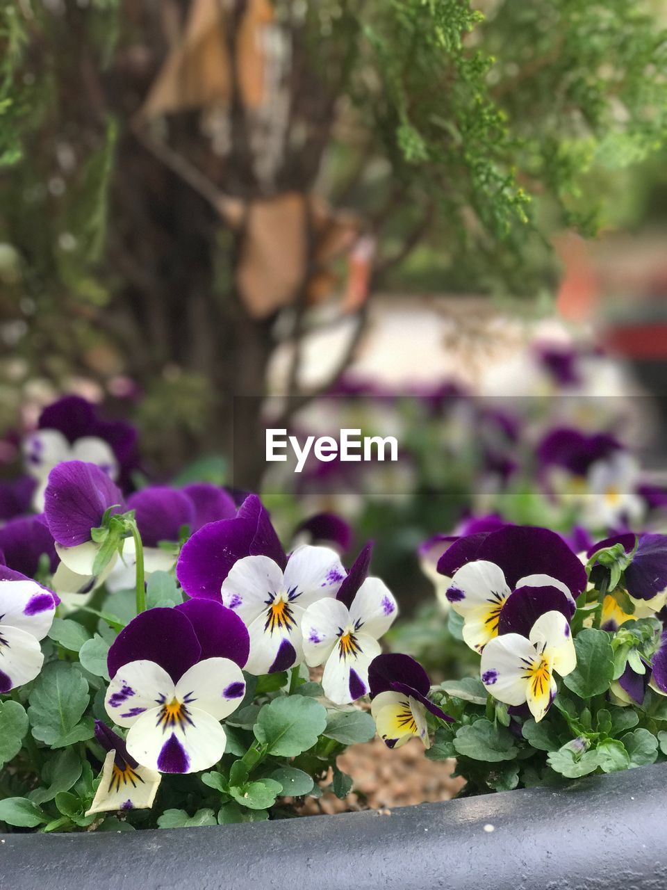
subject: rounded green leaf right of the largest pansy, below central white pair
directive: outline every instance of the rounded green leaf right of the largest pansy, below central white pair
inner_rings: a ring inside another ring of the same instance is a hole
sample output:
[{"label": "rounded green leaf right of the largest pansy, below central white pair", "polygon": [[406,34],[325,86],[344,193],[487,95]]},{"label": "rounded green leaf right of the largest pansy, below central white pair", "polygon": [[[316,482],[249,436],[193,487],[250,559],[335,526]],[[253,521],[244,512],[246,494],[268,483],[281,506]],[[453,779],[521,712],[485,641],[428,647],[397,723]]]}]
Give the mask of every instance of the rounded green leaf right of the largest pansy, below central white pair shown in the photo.
[{"label": "rounded green leaf right of the largest pansy, below central white pair", "polygon": [[325,726],[326,709],[318,701],[290,695],[261,708],[254,734],[269,755],[295,757],[316,744]]}]

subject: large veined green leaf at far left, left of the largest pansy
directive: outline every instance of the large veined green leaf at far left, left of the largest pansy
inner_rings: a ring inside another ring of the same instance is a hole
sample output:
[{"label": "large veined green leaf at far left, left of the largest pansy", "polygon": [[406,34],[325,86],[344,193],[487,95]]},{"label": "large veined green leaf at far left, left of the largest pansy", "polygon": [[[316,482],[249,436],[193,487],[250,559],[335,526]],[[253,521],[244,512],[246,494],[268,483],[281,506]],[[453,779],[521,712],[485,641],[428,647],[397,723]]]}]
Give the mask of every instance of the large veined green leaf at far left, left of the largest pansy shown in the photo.
[{"label": "large veined green leaf at far left, left of the largest pansy", "polygon": [[61,748],[92,738],[92,720],[87,728],[79,724],[89,695],[88,684],[74,665],[59,661],[45,667],[28,701],[28,718],[36,739]]}]

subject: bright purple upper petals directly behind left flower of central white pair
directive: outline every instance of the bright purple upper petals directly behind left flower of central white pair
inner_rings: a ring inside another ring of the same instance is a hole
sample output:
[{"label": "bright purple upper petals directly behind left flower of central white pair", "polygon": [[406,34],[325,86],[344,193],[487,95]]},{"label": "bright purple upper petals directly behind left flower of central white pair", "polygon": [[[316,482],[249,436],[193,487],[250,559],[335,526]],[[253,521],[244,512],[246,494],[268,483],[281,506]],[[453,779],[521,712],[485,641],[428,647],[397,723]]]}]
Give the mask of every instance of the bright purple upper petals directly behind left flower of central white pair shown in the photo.
[{"label": "bright purple upper petals directly behind left flower of central white pair", "polygon": [[236,519],[209,522],[183,546],[176,576],[189,596],[221,600],[222,582],[244,556],[269,556],[285,569],[285,551],[260,498],[250,495]]}]

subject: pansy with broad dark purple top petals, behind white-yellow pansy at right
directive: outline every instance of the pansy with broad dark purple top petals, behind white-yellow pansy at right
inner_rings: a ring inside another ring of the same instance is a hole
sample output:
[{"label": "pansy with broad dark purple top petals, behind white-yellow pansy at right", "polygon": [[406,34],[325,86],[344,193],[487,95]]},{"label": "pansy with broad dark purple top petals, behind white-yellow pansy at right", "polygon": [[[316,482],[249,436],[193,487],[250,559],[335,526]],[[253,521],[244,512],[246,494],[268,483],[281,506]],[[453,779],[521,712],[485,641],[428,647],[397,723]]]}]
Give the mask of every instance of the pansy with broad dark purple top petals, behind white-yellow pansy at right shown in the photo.
[{"label": "pansy with broad dark purple top petals, behind white-yellow pansy at right", "polygon": [[532,526],[460,538],[440,558],[438,571],[452,578],[446,597],[463,618],[463,639],[477,651],[498,634],[527,636],[544,612],[569,619],[587,582],[565,541]]}]

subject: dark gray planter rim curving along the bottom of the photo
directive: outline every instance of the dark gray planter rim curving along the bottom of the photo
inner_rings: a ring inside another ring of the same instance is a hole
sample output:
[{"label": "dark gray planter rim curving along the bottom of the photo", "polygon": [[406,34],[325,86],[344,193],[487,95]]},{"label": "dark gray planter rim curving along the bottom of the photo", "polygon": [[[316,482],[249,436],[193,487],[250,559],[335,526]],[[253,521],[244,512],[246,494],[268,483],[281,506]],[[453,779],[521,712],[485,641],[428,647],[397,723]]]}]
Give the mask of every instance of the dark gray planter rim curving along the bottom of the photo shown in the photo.
[{"label": "dark gray planter rim curving along the bottom of the photo", "polygon": [[661,890],[667,764],[382,814],[0,836],[12,890]]}]

